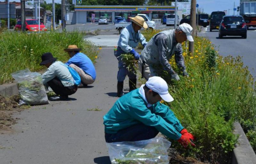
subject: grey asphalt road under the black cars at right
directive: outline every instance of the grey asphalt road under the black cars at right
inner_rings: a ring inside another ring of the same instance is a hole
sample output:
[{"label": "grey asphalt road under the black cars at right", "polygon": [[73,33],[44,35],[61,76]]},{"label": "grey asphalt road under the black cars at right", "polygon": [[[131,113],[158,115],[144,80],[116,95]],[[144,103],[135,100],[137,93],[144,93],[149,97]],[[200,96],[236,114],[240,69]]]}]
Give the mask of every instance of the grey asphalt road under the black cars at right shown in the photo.
[{"label": "grey asphalt road under the black cars at right", "polygon": [[[209,30],[209,29],[208,29]],[[211,40],[212,44],[216,46],[216,49],[219,51],[220,55],[228,56],[232,55],[242,56],[244,66],[248,66],[251,74],[255,77],[255,63],[256,63],[256,51],[255,51],[255,42],[256,42],[256,28],[250,28],[247,31],[247,39],[241,39],[241,37],[226,36],[223,39],[219,39],[219,33],[217,30],[213,32],[203,32],[199,33],[199,36],[205,36]]]}]

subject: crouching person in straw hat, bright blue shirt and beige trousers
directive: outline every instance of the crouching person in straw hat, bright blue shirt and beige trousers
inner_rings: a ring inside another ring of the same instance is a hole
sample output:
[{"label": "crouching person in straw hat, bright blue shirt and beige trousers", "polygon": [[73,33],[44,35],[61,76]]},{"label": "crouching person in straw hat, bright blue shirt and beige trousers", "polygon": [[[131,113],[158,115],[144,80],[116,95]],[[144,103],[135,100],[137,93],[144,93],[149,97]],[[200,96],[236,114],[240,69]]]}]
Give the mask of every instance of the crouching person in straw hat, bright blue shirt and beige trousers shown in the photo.
[{"label": "crouching person in straw hat, bright blue shirt and beige trousers", "polygon": [[78,88],[92,84],[96,79],[96,71],[92,61],[84,53],[79,52],[81,48],[77,48],[76,45],[69,45],[64,51],[70,56],[66,64],[74,68],[81,77],[81,84],[78,85]]}]

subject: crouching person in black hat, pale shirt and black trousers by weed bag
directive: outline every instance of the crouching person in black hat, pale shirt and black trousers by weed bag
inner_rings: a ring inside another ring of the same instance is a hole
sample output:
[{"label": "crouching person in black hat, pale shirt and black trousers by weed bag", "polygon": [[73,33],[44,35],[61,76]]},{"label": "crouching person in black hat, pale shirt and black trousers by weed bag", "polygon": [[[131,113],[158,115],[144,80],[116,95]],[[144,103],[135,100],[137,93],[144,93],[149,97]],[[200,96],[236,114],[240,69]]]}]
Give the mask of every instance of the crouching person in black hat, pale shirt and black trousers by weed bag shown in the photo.
[{"label": "crouching person in black hat, pale shirt and black trousers by weed bag", "polygon": [[43,84],[50,86],[56,95],[50,97],[51,101],[67,100],[68,95],[72,95],[77,90],[77,85],[70,74],[68,68],[61,61],[56,61],[57,58],[52,56],[52,53],[44,53],[40,65],[47,67],[46,72],[42,75]]}]

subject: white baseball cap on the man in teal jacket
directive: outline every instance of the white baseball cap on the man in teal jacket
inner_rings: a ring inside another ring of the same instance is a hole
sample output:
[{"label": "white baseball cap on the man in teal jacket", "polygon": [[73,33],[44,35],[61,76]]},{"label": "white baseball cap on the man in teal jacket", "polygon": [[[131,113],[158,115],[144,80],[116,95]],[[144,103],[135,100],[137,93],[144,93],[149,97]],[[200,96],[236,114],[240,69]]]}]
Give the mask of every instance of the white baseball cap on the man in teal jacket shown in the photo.
[{"label": "white baseball cap on the man in teal jacket", "polygon": [[158,93],[164,101],[172,102],[174,100],[168,92],[167,83],[161,77],[150,77],[146,82],[146,86],[154,92]]}]

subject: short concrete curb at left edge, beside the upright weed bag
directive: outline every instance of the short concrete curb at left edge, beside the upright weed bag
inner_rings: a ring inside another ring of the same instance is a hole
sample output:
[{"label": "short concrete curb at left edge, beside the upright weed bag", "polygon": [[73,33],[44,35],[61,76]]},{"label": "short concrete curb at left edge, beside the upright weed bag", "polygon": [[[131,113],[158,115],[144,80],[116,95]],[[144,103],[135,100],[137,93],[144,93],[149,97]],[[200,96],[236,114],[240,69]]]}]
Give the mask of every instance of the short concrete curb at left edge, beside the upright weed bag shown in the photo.
[{"label": "short concrete curb at left edge, beside the upright weed bag", "polygon": [[0,85],[0,95],[12,96],[19,94],[17,83]]}]

